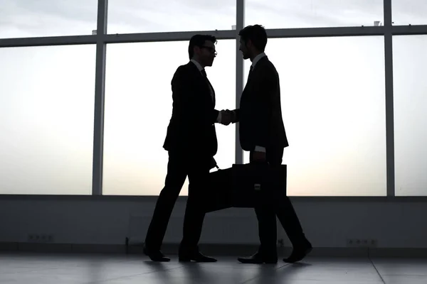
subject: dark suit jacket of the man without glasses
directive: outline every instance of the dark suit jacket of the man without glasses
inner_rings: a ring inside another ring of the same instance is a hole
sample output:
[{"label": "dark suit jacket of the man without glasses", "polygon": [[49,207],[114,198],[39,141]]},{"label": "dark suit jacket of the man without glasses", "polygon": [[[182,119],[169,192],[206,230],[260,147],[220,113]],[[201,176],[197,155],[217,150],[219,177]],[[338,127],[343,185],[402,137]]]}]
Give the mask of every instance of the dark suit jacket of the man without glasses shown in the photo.
[{"label": "dark suit jacket of the man without glasses", "polygon": [[253,67],[243,89],[240,109],[236,109],[236,120],[240,122],[240,142],[245,151],[253,151],[255,146],[289,146],[280,104],[279,75],[267,56]]}]

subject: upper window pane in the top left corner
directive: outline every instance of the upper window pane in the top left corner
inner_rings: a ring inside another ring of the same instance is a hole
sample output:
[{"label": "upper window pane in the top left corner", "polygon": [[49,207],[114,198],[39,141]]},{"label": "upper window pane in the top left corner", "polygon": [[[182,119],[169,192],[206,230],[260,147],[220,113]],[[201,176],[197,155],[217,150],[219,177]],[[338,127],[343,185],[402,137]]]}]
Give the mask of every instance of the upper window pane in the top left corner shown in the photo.
[{"label": "upper window pane in the top left corner", "polygon": [[90,35],[97,0],[0,0],[0,38]]}]

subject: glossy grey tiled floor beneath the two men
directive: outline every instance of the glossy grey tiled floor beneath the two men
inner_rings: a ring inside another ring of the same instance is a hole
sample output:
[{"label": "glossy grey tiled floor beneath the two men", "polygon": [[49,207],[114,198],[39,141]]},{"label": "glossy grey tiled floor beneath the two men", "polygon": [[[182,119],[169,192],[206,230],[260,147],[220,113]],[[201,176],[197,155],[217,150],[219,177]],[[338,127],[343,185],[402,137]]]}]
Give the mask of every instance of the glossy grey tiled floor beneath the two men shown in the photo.
[{"label": "glossy grey tiled floor beneath the two men", "polygon": [[427,259],[307,258],[303,263],[153,263],[141,255],[0,253],[1,284],[426,284]]}]

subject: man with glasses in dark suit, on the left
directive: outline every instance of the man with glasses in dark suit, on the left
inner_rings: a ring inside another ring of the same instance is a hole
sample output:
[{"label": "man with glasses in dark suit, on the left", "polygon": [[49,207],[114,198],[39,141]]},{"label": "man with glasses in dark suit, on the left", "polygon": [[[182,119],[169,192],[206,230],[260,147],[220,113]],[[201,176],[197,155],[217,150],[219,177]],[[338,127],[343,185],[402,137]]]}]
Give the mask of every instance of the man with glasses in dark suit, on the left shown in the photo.
[{"label": "man with glasses in dark suit, on the left", "polygon": [[188,175],[189,197],[184,215],[179,261],[215,262],[199,252],[198,243],[204,221],[204,181],[216,165],[218,148],[215,123],[230,124],[231,116],[215,109],[215,92],[204,67],[216,57],[216,38],[194,35],[189,42],[189,59],[172,78],[172,118],[167,128],[164,149],[169,153],[167,176],[157,200],[144,243],[144,253],[152,261],[170,261],[161,246],[176,198]]}]

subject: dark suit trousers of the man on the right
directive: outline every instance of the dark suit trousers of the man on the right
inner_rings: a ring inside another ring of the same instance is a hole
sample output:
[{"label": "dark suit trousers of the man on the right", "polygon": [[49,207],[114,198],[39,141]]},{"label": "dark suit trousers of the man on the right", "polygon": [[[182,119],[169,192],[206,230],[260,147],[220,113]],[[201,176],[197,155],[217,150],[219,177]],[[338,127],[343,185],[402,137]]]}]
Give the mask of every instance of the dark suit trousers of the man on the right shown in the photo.
[{"label": "dark suit trousers of the man on the right", "polygon": [[[250,162],[253,163],[253,152],[250,153]],[[283,158],[283,148],[267,148],[265,151],[267,162],[270,165],[281,165]],[[260,205],[255,207],[255,214],[258,219],[258,234],[260,238],[260,253],[268,255],[277,254],[277,226],[276,216],[280,224],[285,229],[288,238],[293,246],[298,246],[305,240],[300,220],[297,217],[294,207],[283,190],[274,192],[273,206]]]}]

